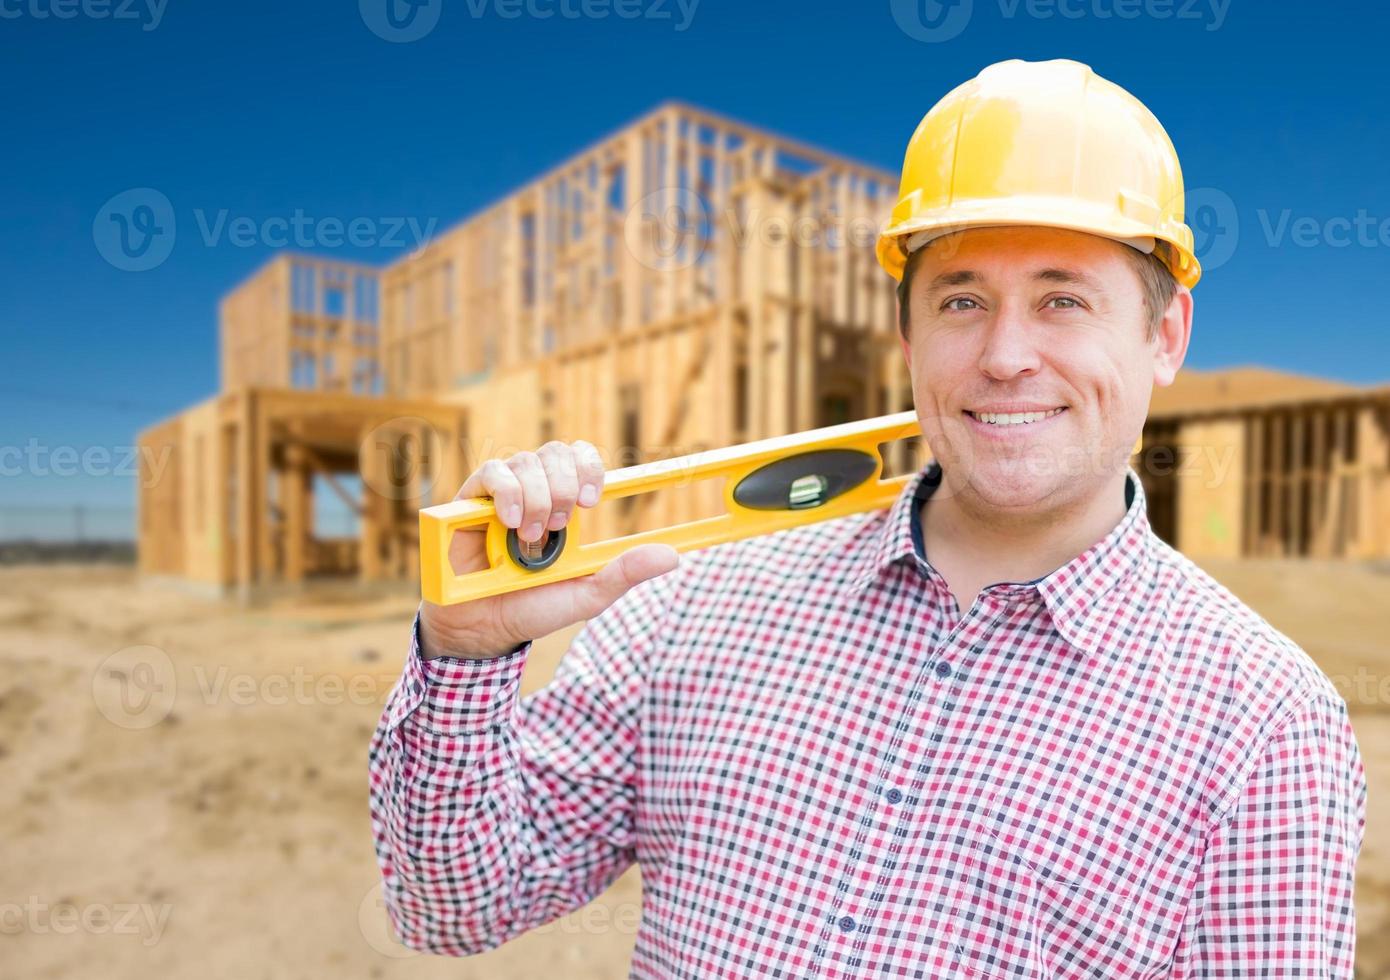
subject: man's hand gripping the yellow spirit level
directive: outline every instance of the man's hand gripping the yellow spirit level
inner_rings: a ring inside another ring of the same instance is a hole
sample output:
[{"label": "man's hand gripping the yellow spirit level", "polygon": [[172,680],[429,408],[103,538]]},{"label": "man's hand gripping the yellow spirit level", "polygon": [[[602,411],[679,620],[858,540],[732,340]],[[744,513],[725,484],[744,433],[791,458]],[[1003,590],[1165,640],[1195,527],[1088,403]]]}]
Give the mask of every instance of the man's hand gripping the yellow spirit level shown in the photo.
[{"label": "man's hand gripping the yellow spirit level", "polygon": [[[603,488],[603,462],[582,439],[546,442],[537,452],[488,460],[470,475],[455,499],[491,496],[498,516],[517,528],[523,542],[564,527],[574,505],[592,507]],[[486,528],[457,531],[449,562],[460,573],[488,567]],[[420,653],[425,658],[500,656],[527,639],[543,637],[603,612],[620,595],[678,564],[670,545],[638,545],[592,575],[550,582],[453,606],[420,607]]]}]

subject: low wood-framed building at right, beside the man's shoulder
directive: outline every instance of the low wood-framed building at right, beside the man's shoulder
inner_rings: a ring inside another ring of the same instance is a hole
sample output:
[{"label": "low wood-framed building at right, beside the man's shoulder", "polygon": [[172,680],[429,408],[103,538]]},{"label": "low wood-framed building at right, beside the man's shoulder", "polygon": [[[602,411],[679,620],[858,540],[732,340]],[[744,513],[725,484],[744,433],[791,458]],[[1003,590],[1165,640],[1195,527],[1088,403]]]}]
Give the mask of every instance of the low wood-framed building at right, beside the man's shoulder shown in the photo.
[{"label": "low wood-framed building at right, beside the man's shoulder", "polygon": [[1154,389],[1154,530],[1202,557],[1390,556],[1390,386],[1257,367],[1182,370]]}]

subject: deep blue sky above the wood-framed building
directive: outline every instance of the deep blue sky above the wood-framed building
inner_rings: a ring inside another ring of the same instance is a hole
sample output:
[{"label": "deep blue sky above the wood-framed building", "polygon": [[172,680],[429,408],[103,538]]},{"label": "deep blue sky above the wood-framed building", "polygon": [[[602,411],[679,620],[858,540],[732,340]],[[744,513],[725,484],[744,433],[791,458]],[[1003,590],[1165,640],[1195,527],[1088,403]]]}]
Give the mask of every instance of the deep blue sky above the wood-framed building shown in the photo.
[{"label": "deep blue sky above the wood-framed building", "polygon": [[[443,229],[669,97],[897,171],[931,103],[1008,57],[1086,61],[1168,128],[1211,260],[1188,364],[1390,379],[1382,4],[432,0],[392,43],[384,3],[0,0],[0,512],[129,506],[106,471],[215,391],[217,299],[272,249],[200,222]],[[132,188],[178,228],[147,271],[93,236]],[[385,263],[399,238],[313,250]],[[56,475],[31,446],[110,462]]]}]

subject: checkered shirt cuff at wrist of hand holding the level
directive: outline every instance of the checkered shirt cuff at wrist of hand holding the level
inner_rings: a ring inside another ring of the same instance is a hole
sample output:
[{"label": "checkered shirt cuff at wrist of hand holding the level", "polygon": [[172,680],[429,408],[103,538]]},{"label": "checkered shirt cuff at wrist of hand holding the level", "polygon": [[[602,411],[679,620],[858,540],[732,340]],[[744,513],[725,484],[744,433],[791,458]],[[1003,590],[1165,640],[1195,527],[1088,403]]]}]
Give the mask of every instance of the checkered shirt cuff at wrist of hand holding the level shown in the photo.
[{"label": "checkered shirt cuff at wrist of hand holding the level", "polygon": [[410,628],[410,655],[403,677],[409,708],[425,730],[441,735],[482,731],[503,724],[516,703],[525,667],[527,639],[506,653],[486,659],[420,653],[420,613]]}]

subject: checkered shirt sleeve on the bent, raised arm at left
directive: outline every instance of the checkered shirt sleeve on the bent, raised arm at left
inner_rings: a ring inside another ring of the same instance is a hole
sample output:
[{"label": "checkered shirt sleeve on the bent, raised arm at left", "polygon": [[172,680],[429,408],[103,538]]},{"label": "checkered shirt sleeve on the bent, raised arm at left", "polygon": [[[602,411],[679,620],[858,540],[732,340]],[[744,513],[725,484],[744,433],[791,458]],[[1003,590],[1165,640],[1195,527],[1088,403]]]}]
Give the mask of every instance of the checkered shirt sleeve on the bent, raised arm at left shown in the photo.
[{"label": "checkered shirt sleeve on the bent, raised arm at left", "polygon": [[531,644],[424,660],[414,634],[368,751],[384,899],[404,945],[491,949],[631,865],[639,706],[677,574],[588,620],[553,681],[524,699]]}]

